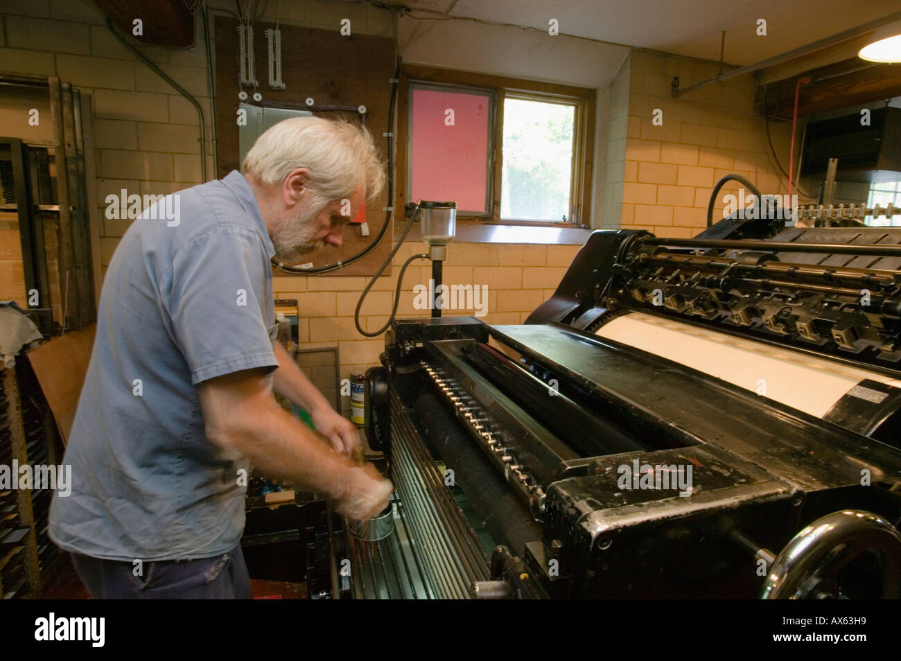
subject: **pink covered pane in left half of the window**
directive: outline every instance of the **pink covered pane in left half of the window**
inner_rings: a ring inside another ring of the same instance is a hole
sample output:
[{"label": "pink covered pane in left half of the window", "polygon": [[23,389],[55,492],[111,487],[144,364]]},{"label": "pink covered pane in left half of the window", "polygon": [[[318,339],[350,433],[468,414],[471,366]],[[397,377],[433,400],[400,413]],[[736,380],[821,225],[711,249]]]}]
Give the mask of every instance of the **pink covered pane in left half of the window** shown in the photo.
[{"label": "pink covered pane in left half of the window", "polygon": [[489,112],[487,95],[413,90],[411,201],[486,211]]}]

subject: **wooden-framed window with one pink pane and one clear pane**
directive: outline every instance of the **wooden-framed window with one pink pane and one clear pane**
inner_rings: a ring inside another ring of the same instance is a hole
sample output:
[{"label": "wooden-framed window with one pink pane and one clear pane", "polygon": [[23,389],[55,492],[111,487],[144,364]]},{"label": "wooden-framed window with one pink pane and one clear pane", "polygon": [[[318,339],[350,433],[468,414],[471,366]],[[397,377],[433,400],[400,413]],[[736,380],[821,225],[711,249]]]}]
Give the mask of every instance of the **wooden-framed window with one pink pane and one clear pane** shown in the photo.
[{"label": "wooden-framed window with one pink pane and one clear pane", "polygon": [[453,201],[470,221],[587,225],[596,90],[404,69],[398,202]]}]

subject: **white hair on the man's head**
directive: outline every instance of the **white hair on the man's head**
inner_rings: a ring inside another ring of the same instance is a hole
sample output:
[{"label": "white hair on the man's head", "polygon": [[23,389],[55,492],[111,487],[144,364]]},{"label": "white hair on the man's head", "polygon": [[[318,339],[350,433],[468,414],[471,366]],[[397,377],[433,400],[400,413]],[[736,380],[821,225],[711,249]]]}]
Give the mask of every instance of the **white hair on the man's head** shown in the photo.
[{"label": "white hair on the man's head", "polygon": [[[385,168],[366,127],[321,117],[293,117],[257,138],[241,169],[275,185],[296,168],[310,171],[310,184],[321,207],[350,198],[366,183],[372,204],[385,186]],[[388,201],[388,204],[391,204]]]}]

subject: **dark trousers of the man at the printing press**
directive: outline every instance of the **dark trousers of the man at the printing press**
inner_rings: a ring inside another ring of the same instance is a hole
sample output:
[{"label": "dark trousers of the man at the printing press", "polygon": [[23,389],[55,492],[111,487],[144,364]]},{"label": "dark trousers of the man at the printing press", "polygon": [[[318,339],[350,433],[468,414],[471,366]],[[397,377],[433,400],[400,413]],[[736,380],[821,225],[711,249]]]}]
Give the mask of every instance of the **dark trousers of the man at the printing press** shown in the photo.
[{"label": "dark trousers of the man at the printing press", "polygon": [[241,545],[222,556],[130,562],[72,555],[94,599],[250,599],[250,575]]}]

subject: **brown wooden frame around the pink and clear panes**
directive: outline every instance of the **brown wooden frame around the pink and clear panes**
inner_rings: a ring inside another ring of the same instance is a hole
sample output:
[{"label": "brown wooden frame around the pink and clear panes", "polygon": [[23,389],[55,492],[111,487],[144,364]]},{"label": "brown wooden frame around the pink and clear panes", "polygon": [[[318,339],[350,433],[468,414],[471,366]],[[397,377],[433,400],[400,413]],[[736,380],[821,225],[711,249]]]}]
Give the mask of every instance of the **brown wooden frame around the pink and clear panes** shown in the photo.
[{"label": "brown wooden frame around the pink and clear panes", "polygon": [[[403,209],[407,199],[406,182],[409,177],[410,84],[435,84],[438,86],[463,86],[496,90],[495,117],[493,122],[495,143],[492,162],[491,214],[462,215],[464,224],[523,225],[526,227],[585,228],[589,226],[591,209],[591,181],[594,170],[596,131],[596,94],[590,87],[567,86],[555,83],[499,77],[454,69],[442,69],[424,65],[405,64],[397,90],[397,181],[405,182],[396,187],[395,208]],[[573,125],[572,177],[570,178],[568,221],[516,221],[500,218],[501,173],[504,158],[504,99],[528,98],[535,101],[562,102],[576,105]],[[415,202],[413,200],[412,202]]]}]

